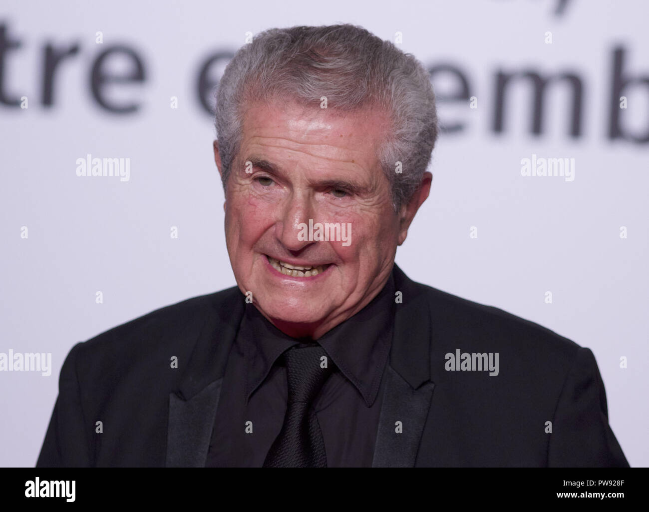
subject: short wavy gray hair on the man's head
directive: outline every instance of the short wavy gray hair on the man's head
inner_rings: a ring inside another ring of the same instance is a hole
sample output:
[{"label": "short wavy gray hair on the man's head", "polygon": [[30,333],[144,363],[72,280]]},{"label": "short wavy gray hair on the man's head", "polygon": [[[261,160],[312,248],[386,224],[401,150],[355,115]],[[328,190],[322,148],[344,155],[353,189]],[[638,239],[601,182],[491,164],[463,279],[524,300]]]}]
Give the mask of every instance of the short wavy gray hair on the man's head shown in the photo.
[{"label": "short wavy gray hair on the man's head", "polygon": [[289,99],[319,107],[322,96],[332,109],[378,107],[389,114],[391,131],[376,156],[398,211],[430,162],[439,131],[435,94],[419,60],[354,25],[270,29],[237,51],[216,94],[224,190],[239,151],[247,101]]}]

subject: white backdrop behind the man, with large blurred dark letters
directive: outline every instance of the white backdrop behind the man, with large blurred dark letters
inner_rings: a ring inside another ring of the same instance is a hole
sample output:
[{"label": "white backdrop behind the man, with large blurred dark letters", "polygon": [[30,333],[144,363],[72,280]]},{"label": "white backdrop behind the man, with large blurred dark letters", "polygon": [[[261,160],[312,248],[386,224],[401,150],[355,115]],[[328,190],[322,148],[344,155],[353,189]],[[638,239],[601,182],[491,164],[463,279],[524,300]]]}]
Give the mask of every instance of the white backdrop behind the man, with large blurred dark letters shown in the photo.
[{"label": "white backdrop behind the man, with large blurred dark letters", "polygon": [[[433,83],[441,121],[459,129],[439,138],[432,192],[397,263],[415,281],[591,348],[613,431],[631,466],[649,465],[648,14],[643,0],[3,1],[0,352],[49,352],[52,369],[0,371],[0,465],[36,463],[73,344],[234,285],[214,128],[199,101],[202,64],[231,55],[246,32],[338,22],[393,41],[400,32],[400,47],[426,66],[452,67]],[[44,87],[47,45],[50,64],[77,51]],[[93,95],[93,66],[116,46],[134,52],[141,75],[132,55],[113,54],[99,70],[136,78],[100,83]],[[622,89],[613,88],[616,49]],[[208,80],[223,64],[208,68]],[[498,76],[524,72],[578,78],[576,136],[567,81],[545,88],[534,134],[531,82],[511,79],[496,131]],[[95,96],[137,109],[116,114]],[[24,98],[26,109],[8,105],[24,107]],[[129,181],[77,176],[88,154],[130,159]],[[522,176],[532,155],[574,159],[574,181]]]}]

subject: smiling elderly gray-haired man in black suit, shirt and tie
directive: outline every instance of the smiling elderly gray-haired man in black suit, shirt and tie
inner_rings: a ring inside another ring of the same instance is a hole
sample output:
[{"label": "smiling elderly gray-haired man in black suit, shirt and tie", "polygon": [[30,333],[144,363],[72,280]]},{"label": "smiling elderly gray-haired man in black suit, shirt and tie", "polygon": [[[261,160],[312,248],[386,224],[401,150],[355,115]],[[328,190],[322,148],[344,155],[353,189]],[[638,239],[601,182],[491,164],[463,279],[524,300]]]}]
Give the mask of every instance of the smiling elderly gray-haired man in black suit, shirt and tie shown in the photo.
[{"label": "smiling elderly gray-haired man in black suit, shirt and tie", "polygon": [[217,93],[237,287],[77,344],[38,466],[626,466],[593,353],[411,281],[435,97],[351,25],[263,32]]}]

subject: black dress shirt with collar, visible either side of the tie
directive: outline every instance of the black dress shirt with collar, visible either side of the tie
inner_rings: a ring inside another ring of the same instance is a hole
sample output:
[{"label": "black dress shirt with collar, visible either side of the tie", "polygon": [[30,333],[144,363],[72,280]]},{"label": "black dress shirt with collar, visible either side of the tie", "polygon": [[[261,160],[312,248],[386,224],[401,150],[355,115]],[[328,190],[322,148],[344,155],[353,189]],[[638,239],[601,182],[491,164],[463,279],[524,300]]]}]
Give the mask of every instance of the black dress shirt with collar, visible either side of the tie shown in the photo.
[{"label": "black dress shirt with collar, visible either side of the tie", "polygon": [[[328,467],[371,467],[392,343],[393,274],[361,311],[317,340],[334,372],[313,402]],[[247,304],[228,355],[206,467],[262,467],[282,428],[288,385],[282,353],[293,339]]]}]

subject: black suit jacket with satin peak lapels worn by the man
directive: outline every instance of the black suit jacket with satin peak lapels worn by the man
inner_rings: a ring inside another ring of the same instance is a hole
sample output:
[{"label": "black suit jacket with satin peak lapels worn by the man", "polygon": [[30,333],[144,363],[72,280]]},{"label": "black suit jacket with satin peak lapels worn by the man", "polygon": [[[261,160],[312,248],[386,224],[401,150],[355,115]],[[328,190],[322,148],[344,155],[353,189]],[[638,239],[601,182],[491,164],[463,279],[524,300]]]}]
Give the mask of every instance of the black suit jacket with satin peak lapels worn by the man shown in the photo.
[{"label": "black suit jacket with satin peak lapels worn by the man", "polygon": [[[374,466],[628,466],[589,349],[394,273]],[[204,466],[244,299],[228,288],[76,344],[37,467]],[[458,349],[498,353],[498,376],[447,371]]]}]

